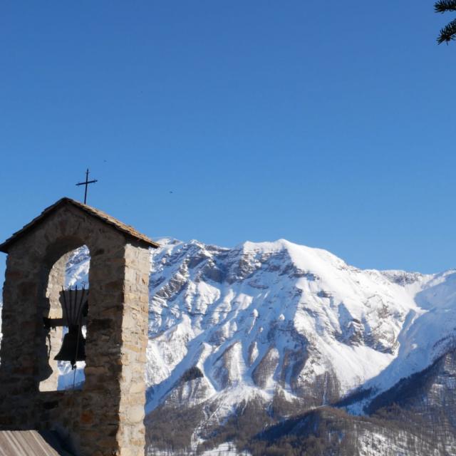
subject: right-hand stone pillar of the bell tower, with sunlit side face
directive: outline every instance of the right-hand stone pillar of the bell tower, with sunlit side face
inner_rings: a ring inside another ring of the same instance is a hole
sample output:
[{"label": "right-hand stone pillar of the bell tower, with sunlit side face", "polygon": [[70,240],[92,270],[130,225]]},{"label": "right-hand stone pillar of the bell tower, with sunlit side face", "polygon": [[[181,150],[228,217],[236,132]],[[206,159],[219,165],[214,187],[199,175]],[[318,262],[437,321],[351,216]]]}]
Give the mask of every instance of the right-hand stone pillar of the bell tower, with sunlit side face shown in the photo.
[{"label": "right-hand stone pillar of the bell tower, with sunlit side face", "polygon": [[149,270],[148,249],[130,243],[92,257],[83,455],[144,454]]}]

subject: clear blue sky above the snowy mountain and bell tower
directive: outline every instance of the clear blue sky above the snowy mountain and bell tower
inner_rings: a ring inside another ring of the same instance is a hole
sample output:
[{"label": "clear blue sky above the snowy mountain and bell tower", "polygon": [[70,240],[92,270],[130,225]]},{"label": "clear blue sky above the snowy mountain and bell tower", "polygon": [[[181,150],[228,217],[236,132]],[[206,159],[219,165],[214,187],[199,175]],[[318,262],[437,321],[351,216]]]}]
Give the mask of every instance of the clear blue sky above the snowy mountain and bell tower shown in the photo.
[{"label": "clear blue sky above the snowy mountain and bell tower", "polygon": [[0,238],[81,199],[90,167],[89,204],[151,237],[456,266],[456,43],[433,3],[1,2]]}]

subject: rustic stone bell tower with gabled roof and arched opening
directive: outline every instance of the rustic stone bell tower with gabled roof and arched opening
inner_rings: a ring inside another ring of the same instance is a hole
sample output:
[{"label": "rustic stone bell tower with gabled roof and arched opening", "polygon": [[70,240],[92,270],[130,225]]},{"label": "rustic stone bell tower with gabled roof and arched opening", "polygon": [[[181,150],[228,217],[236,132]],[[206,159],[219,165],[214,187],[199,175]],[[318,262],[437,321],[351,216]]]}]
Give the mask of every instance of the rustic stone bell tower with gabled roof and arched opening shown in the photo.
[{"label": "rustic stone bell tower with gabled roof and arched opening", "polygon": [[[69,252],[90,251],[86,381],[57,390],[59,293]],[[0,429],[55,430],[78,456],[144,454],[149,248],[158,244],[63,198],[13,234],[4,283]]]}]

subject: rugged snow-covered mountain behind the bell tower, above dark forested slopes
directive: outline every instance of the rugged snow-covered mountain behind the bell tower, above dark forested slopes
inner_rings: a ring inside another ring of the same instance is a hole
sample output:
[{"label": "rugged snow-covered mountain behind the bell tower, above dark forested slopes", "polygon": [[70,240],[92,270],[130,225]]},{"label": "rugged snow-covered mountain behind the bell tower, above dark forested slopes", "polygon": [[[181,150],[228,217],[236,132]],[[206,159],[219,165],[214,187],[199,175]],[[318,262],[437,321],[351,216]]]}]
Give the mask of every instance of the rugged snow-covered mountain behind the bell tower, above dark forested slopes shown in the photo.
[{"label": "rugged snow-covered mountain behind the bell tower, above dark forested slopes", "polygon": [[[266,410],[259,429],[323,405],[366,414],[455,347],[455,270],[361,270],[283,239],[233,249],[159,242],[150,273],[150,454],[157,446],[188,454],[249,404]],[[88,267],[78,249],[68,285],[87,285]],[[181,434],[163,435],[170,420]]]}]

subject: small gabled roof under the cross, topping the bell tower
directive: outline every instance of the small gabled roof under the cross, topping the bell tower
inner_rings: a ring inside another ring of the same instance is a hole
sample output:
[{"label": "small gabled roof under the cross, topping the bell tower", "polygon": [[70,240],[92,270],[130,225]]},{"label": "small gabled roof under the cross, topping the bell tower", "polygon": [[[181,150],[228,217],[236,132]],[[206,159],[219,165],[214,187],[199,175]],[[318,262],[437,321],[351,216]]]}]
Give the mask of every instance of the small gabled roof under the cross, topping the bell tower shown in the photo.
[{"label": "small gabled roof under the cross, topping the bell tower", "polygon": [[[88,206],[87,204],[83,204],[81,202],[75,201],[74,199],[65,197],[65,198],[59,199],[58,202],[55,202],[54,204],[52,204],[52,206],[49,206],[46,209],[44,209],[43,212],[41,212],[41,214],[38,215],[38,217],[34,218],[31,222],[26,224],[22,229],[19,229],[18,232],[15,232],[3,244],[0,244],[0,252],[7,253],[9,247],[12,244],[14,244],[14,242],[16,242],[20,237],[22,237],[28,231],[33,229],[33,227],[35,227],[36,224],[42,222],[43,219],[45,219],[46,217],[48,217],[48,215],[50,215],[54,211],[56,211],[56,209],[58,209],[61,206],[66,205],[66,204],[78,207],[78,209],[81,209],[84,212],[86,212],[90,215],[93,215],[93,217],[100,219],[102,222],[105,222],[106,224],[110,224],[118,231],[126,234],[128,237],[132,237],[133,239],[143,242],[148,247],[154,247],[154,248],[160,247],[159,244],[157,244],[157,242],[152,241],[152,239],[145,236],[145,234],[141,234],[140,232],[136,231],[136,229],[131,227],[130,225],[120,222],[118,219],[111,217],[110,215],[106,214],[105,212],[100,211],[99,209],[95,209],[95,207],[91,207],[91,206]],[[0,456],[1,456],[1,453],[0,453]]]}]

